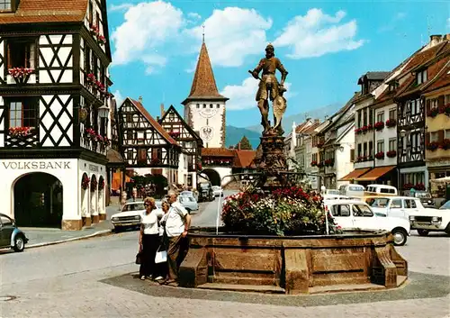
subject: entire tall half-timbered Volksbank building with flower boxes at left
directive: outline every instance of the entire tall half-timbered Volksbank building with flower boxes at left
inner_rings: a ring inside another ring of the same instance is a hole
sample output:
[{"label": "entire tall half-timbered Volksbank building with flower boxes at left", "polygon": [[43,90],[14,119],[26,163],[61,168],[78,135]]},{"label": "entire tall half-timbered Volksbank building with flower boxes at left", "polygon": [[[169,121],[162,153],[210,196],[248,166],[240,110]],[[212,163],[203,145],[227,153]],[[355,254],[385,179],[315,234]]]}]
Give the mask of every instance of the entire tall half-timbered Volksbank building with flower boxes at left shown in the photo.
[{"label": "entire tall half-timbered Volksbank building with flower boxes at left", "polygon": [[105,217],[105,0],[0,2],[0,195],[19,226]]}]

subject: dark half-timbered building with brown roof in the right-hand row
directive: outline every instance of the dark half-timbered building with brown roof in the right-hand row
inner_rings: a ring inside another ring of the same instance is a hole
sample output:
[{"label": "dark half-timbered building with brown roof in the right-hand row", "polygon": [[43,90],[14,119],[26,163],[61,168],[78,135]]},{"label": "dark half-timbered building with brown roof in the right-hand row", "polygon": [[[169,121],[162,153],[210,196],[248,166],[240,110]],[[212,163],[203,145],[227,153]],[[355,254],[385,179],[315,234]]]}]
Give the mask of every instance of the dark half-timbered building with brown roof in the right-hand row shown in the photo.
[{"label": "dark half-timbered building with brown roof in the right-hand row", "polygon": [[426,107],[423,90],[444,68],[450,54],[448,41],[435,41],[431,37],[428,45],[414,54],[402,70],[399,86],[394,100],[397,104],[398,167],[400,168],[400,189],[428,188],[428,172],[425,162]]}]

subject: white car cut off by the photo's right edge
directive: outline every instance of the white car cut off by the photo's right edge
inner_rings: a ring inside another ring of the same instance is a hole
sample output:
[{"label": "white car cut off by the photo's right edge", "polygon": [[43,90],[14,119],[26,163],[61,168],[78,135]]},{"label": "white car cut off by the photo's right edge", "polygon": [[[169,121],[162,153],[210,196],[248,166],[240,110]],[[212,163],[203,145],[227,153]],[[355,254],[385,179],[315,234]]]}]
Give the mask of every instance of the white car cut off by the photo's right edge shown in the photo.
[{"label": "white car cut off by the photo's right edge", "polygon": [[410,214],[412,230],[417,230],[420,236],[429,232],[446,232],[450,235],[450,201],[438,209],[425,208],[415,214]]}]

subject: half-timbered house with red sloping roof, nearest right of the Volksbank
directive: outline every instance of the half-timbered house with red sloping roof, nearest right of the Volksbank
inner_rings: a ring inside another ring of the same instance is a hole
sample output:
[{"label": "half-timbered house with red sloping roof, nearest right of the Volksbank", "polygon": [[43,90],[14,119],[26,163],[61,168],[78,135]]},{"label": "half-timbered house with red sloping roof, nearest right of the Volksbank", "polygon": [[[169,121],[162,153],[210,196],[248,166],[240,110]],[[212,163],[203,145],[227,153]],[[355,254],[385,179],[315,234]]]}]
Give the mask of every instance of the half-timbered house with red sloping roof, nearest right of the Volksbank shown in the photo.
[{"label": "half-timbered house with red sloping roof, nearest right of the Volksbank", "polygon": [[139,101],[127,97],[118,110],[121,156],[126,167],[139,175],[162,174],[169,185],[178,183],[181,147],[175,139],[148,114]]}]

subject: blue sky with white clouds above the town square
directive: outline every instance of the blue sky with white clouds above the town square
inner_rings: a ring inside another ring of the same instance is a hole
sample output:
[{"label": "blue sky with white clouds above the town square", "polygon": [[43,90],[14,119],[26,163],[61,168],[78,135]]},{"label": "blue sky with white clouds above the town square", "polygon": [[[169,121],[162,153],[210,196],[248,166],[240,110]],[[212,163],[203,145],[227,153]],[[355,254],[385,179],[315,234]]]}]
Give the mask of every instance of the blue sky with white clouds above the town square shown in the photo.
[{"label": "blue sky with white clouds above the town square", "polygon": [[[289,72],[285,115],[345,104],[367,71],[390,71],[429,41],[450,33],[446,1],[149,1],[108,0],[112,93],[143,98],[154,117],[160,104],[189,95],[204,41],[227,124],[260,122],[257,66],[266,45]],[[279,77],[279,74],[278,74]]]}]

